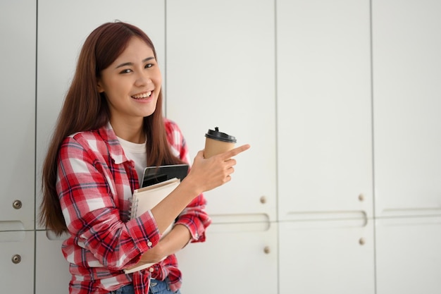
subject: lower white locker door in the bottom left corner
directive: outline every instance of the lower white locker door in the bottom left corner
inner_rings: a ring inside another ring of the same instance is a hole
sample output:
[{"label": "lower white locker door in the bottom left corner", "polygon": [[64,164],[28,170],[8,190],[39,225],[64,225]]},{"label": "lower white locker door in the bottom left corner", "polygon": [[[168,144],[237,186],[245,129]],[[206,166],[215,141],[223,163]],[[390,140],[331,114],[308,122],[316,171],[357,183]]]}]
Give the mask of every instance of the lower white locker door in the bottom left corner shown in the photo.
[{"label": "lower white locker door in the bottom left corner", "polygon": [[34,293],[34,232],[0,232],[2,293]]}]

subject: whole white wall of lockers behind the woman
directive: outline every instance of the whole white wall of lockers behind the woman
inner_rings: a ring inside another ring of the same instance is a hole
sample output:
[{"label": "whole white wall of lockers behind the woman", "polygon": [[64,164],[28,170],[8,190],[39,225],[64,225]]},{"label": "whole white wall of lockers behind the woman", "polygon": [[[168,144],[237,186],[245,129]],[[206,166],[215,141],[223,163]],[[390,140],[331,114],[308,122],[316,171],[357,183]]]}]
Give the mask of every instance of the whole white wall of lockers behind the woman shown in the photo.
[{"label": "whole white wall of lockers behind the woman", "polygon": [[35,222],[40,169],[82,42],[118,19],[153,39],[192,155],[215,126],[251,144],[206,193],[183,294],[439,293],[440,15],[434,0],[2,1],[4,292],[67,293],[61,240]]}]

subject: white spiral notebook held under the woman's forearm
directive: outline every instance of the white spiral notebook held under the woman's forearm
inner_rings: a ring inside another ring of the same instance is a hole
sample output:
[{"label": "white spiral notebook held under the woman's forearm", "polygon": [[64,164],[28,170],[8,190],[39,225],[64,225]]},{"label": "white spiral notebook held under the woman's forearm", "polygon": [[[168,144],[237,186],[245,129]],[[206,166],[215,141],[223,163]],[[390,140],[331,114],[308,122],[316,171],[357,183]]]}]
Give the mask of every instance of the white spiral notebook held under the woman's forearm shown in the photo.
[{"label": "white spiral notebook held under the woman's forearm", "polygon": [[[132,197],[132,207],[130,207],[130,219],[135,219],[136,217],[144,214],[144,212],[149,211],[156,206],[161,200],[167,197],[180,183],[179,178],[170,178],[161,183],[156,183],[154,185],[149,185],[144,188],[139,188],[133,191]],[[173,223],[164,231],[162,236],[166,235],[173,228]],[[166,257],[164,257],[165,259]],[[151,267],[153,264],[139,264],[137,267],[130,269],[125,269],[125,274],[130,274],[134,271],[139,271],[140,269],[146,269]]]}]

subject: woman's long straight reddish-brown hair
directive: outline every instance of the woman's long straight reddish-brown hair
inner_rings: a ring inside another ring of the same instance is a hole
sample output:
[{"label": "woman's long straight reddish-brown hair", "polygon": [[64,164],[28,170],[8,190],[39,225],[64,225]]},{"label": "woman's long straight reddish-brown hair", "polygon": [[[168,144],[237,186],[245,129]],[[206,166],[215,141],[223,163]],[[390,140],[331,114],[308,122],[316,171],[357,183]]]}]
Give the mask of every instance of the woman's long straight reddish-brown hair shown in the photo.
[{"label": "woman's long straight reddish-brown hair", "polygon": [[[132,37],[139,37],[156,51],[151,39],[138,27],[128,23],[104,23],[97,27],[82,46],[75,75],[66,94],[51,138],[42,171],[43,200],[40,207],[40,223],[57,235],[67,231],[66,221],[56,192],[58,149],[65,137],[73,133],[96,130],[106,125],[110,112],[104,93],[97,85],[101,71],[123,53]],[[147,135],[147,165],[182,163],[173,156],[168,147],[162,116],[162,92],[159,92],[156,110],[144,118],[144,132]]]}]

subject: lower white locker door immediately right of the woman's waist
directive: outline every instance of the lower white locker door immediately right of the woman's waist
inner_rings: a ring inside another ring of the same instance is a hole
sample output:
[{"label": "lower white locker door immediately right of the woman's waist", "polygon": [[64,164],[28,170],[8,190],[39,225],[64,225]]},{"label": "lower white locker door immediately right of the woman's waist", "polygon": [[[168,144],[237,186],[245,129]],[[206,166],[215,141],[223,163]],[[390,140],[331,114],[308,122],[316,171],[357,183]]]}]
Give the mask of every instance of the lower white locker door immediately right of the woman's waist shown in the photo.
[{"label": "lower white locker door immediately right of the woman's waist", "polygon": [[277,224],[214,223],[178,253],[182,293],[277,293]]}]

